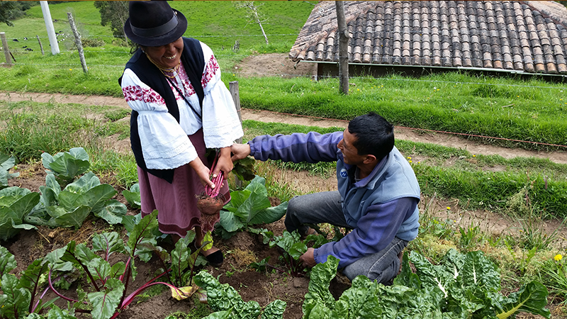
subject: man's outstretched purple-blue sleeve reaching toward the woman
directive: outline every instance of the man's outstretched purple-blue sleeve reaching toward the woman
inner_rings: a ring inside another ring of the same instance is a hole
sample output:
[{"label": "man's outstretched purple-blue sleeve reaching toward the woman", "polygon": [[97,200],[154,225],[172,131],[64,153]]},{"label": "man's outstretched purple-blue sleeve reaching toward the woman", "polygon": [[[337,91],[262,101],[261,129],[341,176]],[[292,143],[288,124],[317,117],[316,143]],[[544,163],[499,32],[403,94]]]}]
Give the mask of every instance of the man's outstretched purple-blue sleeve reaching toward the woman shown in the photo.
[{"label": "man's outstretched purple-blue sleeve reaching toward the woman", "polygon": [[284,162],[334,162],[337,160],[337,144],[342,132],[321,135],[316,132],[291,135],[261,135],[249,141],[250,155],[255,159],[281,159]]}]

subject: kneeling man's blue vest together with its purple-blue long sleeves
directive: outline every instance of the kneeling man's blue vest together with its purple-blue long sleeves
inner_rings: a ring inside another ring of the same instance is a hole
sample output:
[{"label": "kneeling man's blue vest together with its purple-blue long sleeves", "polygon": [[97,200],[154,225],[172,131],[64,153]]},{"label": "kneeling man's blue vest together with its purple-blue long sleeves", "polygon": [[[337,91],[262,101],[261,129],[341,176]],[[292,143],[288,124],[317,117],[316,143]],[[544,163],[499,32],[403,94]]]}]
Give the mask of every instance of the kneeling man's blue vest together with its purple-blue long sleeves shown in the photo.
[{"label": "kneeling man's blue vest together with its purple-blue long sleeves", "polygon": [[321,135],[262,135],[249,141],[250,155],[259,160],[285,162],[335,162],[344,218],[353,230],[339,242],[329,242],[314,252],[315,262],[332,254],[339,268],[383,250],[394,237],[413,240],[420,227],[420,186],[408,161],[395,147],[368,177],[354,181],[356,167],[343,162],[337,147],[342,132]]}]

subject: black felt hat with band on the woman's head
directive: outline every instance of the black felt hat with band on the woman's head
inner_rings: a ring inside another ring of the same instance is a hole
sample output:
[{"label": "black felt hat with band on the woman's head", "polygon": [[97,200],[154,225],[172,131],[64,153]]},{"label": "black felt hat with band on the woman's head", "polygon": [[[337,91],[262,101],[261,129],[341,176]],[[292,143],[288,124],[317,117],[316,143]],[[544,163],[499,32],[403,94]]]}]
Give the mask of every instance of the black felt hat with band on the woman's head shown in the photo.
[{"label": "black felt hat with band on the woman's head", "polygon": [[130,1],[128,10],[130,17],[124,23],[124,32],[139,45],[167,45],[187,30],[183,13],[172,9],[167,1]]}]

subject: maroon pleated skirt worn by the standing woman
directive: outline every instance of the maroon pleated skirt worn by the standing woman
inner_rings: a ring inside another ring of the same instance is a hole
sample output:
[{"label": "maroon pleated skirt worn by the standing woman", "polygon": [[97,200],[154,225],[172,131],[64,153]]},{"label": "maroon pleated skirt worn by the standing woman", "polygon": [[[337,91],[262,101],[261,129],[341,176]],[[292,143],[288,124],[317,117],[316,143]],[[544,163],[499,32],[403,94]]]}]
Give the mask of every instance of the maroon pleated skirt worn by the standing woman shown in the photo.
[{"label": "maroon pleated skirt worn by the standing woman", "polygon": [[[210,168],[213,163],[208,162],[206,158],[203,129],[189,135],[189,139],[203,164]],[[203,194],[205,188],[189,164],[175,169],[172,184],[145,172],[140,167],[137,167],[137,178],[140,184],[142,217],[157,209],[157,221],[162,233],[185,237],[188,230],[199,225],[201,212],[197,209],[196,196]],[[225,196],[225,204],[230,201],[230,191],[226,181],[219,194]]]}]

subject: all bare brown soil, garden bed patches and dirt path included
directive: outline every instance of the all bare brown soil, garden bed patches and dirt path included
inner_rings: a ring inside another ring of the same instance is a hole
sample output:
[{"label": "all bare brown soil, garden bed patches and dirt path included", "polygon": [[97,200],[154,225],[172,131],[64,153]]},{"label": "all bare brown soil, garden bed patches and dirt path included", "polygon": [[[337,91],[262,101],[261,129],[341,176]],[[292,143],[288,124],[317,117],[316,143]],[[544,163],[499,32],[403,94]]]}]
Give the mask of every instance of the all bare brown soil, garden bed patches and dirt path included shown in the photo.
[{"label": "all bare brown soil, garden bed patches and dirt path included", "polygon": [[[258,76],[259,74],[281,74],[282,77],[293,77],[298,75],[313,75],[315,69],[313,65],[305,65],[300,63],[297,69],[293,68],[295,63],[291,62],[286,55],[270,54],[256,55],[248,57],[235,70],[240,70],[240,74],[247,76]],[[266,72],[267,70],[267,72]],[[112,98],[108,96],[71,96],[65,94],[36,94],[21,92],[4,92],[0,94],[0,100],[4,101],[37,101],[37,102],[57,102],[57,103],[82,103],[86,105],[106,105],[120,106],[128,108],[128,104],[123,99]],[[346,121],[335,121],[330,119],[311,118],[305,116],[291,116],[286,114],[273,113],[269,111],[257,111],[250,109],[242,109],[242,118],[264,122],[290,123],[299,125],[316,125],[321,127],[337,127],[346,128]],[[493,155],[497,154],[505,158],[512,157],[542,157],[549,158],[553,162],[567,164],[567,156],[565,152],[535,152],[522,149],[510,149],[503,147],[494,147],[493,145],[485,145],[480,142],[471,142],[460,138],[456,135],[447,135],[442,133],[424,133],[419,130],[408,128],[395,128],[395,136],[398,139],[412,140],[416,142],[434,142],[440,145],[458,147],[466,149],[477,155]],[[130,152],[128,139],[118,140],[117,136],[108,138],[108,142],[120,152]],[[45,172],[40,163],[37,164],[18,164],[18,172],[20,176],[10,179],[10,186],[20,186],[30,189],[31,191],[39,191],[39,186],[45,185]],[[337,189],[336,181],[332,178],[323,179],[321,177],[309,176],[305,172],[281,171],[274,172],[281,182],[288,184],[294,189],[301,191],[328,191]],[[108,184],[112,184],[112,177],[106,177]],[[118,194],[122,189],[116,189]],[[117,195],[116,199],[122,203],[126,203],[121,195]],[[277,198],[274,199],[274,205]],[[470,211],[466,209],[466,203],[451,198],[422,198],[420,209],[426,209],[434,213],[434,215],[442,218],[450,218],[461,225],[480,225],[482,230],[492,232],[498,235],[502,233],[516,233],[519,226],[512,220],[500,216],[489,211]],[[447,209],[450,207],[450,209]],[[139,211],[129,208],[128,214],[137,214]],[[541,225],[547,232],[551,233],[558,230],[559,237],[566,238],[567,232],[564,228],[560,228],[560,223],[549,221]],[[281,235],[285,227],[283,220],[276,223],[264,225],[274,232],[275,235]],[[63,247],[69,240],[90,243],[91,236],[94,233],[109,231],[107,224],[101,220],[86,220],[82,228],[79,230],[67,230],[63,228],[50,229],[39,227],[38,230],[23,230],[19,235],[13,237],[9,242],[1,242],[1,245],[7,247],[14,254],[18,262],[18,268],[13,273],[19,274],[34,259],[45,256],[47,252]],[[258,262],[266,257],[270,257],[270,263],[278,260],[279,252],[273,248],[270,249],[262,244],[262,238],[251,233],[237,233],[230,240],[221,240],[215,238],[217,245],[225,253],[225,263],[222,267],[213,268],[205,267],[213,276],[218,277],[221,283],[230,284],[237,291],[244,301],[257,301],[260,306],[266,306],[267,303],[275,299],[286,301],[287,307],[283,318],[296,319],[303,315],[301,306],[305,293],[308,291],[308,279],[293,278],[279,272],[255,272],[247,269],[246,265],[250,262]],[[563,247],[563,242],[558,244]],[[154,273],[159,269],[160,265],[157,259],[152,259],[148,263],[137,263],[137,271],[139,275],[136,281],[130,286],[130,290],[139,287],[143,282],[151,279]],[[342,291],[349,287],[349,281],[342,275],[338,275],[332,281],[331,291],[335,298],[338,298]],[[64,306],[61,303],[60,306]],[[142,303],[133,303],[127,310],[120,314],[118,318],[147,318],[147,319],[163,319],[169,313],[181,311],[189,313],[196,304],[193,300],[174,301],[168,291],[158,293],[147,301]],[[84,315],[79,318],[87,318]],[[519,317],[520,318],[520,317]],[[522,316],[521,318],[534,318],[532,316]],[[553,318],[562,318],[554,315]]]}]

